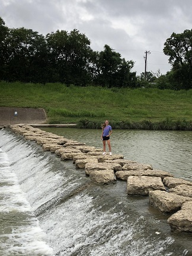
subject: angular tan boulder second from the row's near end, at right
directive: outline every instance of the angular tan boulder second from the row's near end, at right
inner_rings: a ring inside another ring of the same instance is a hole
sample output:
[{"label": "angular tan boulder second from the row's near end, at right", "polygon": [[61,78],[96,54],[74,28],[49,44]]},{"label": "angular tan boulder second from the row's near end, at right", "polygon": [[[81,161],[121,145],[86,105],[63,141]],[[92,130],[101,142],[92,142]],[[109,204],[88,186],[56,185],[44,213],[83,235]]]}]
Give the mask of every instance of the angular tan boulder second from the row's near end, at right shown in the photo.
[{"label": "angular tan boulder second from the row's near end, at right", "polygon": [[186,201],[191,201],[191,198],[159,190],[149,191],[149,203],[160,212],[176,212]]}]

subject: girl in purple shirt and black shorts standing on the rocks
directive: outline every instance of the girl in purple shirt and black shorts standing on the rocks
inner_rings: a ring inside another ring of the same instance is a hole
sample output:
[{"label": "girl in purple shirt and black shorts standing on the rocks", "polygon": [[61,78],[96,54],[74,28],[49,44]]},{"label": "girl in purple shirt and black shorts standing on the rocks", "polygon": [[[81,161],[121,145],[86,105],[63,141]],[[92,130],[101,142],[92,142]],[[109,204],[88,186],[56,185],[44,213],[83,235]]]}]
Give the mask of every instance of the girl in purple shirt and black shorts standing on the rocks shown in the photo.
[{"label": "girl in purple shirt and black shorts standing on the rocks", "polygon": [[105,123],[101,126],[102,128],[102,135],[101,135],[101,139],[103,140],[103,154],[105,155],[106,153],[106,140],[107,140],[107,144],[108,144],[108,150],[110,152],[110,155],[112,155],[111,153],[111,143],[110,143],[110,135],[112,133],[112,128],[111,126],[108,124],[108,120],[105,120]]}]

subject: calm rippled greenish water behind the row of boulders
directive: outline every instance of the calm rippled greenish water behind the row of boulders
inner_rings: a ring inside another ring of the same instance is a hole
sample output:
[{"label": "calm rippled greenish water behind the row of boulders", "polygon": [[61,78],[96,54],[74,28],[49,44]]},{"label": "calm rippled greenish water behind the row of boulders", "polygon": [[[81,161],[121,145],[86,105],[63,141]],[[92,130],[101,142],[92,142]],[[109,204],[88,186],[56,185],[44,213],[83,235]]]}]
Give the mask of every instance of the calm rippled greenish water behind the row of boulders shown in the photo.
[{"label": "calm rippled greenish water behind the row of boulders", "polygon": [[[102,148],[101,130],[48,128],[43,130],[62,135],[86,145]],[[140,163],[152,164],[153,169],[169,171],[175,177],[192,181],[191,131],[113,130],[113,153]]]}]

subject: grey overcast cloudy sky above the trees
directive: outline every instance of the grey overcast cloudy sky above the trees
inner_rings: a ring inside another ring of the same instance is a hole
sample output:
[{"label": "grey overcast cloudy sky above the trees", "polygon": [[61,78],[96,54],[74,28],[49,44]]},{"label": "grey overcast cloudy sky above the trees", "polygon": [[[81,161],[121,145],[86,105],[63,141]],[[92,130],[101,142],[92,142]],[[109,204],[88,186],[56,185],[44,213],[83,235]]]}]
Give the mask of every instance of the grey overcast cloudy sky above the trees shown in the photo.
[{"label": "grey overcast cloudy sky above the trees", "polygon": [[44,36],[74,28],[100,52],[108,44],[126,60],[132,71],[171,69],[164,43],[173,32],[192,28],[191,0],[1,0],[0,16],[9,28],[31,28]]}]

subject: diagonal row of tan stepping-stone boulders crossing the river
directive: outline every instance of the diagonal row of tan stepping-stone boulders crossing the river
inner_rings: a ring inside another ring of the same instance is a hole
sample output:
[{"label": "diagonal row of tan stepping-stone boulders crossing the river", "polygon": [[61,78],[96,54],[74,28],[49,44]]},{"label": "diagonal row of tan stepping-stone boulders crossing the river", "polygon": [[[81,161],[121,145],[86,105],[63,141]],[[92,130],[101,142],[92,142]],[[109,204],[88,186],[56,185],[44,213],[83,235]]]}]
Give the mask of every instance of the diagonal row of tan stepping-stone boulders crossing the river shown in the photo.
[{"label": "diagonal row of tan stepping-stone boulders crossing the river", "polygon": [[172,231],[192,232],[192,182],[152,165],[124,159],[123,155],[102,155],[102,149],[87,146],[63,136],[44,132],[30,125],[10,126],[14,133],[35,141],[43,151],[50,151],[61,161],[71,160],[76,169],[85,169],[89,178],[100,184],[127,182],[127,194],[149,196],[149,203],[168,218]]}]

